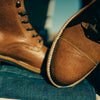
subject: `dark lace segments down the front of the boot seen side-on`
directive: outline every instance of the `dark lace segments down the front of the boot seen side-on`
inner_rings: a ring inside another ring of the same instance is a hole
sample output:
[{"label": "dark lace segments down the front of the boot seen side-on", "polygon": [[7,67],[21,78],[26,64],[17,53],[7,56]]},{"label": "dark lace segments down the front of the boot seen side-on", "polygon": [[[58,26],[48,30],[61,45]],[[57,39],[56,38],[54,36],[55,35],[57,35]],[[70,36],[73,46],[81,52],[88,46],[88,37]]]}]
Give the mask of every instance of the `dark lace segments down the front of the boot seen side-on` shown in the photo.
[{"label": "dark lace segments down the front of the boot seen side-on", "polygon": [[[21,7],[20,1],[16,2],[16,7],[17,7],[17,8]],[[19,14],[21,17],[23,17],[23,16],[26,16],[26,15],[27,15],[27,12],[21,12],[21,11],[19,11],[18,14]],[[27,20],[27,21],[22,20],[21,23],[22,23],[22,24],[27,24],[27,23],[30,23],[30,22],[29,22],[29,20]],[[33,27],[32,27],[32,28],[27,28],[26,30],[27,30],[27,31],[32,31],[32,30],[34,30],[34,28],[33,28]],[[37,37],[37,36],[39,36],[39,34],[33,35],[32,37]],[[38,40],[38,42],[40,43],[42,40],[43,40],[43,39],[40,39],[40,40]]]}]

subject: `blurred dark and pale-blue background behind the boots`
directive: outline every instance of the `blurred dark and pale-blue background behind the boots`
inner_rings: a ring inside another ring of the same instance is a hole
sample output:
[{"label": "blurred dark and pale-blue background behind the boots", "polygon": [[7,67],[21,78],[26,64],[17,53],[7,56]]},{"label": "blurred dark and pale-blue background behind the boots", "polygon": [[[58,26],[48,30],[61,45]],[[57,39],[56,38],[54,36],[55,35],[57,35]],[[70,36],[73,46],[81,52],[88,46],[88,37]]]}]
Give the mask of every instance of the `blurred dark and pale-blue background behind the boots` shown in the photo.
[{"label": "blurred dark and pale-blue background behind the boots", "polygon": [[[92,0],[25,0],[29,20],[50,48],[62,25]],[[100,94],[100,64],[87,80]]]}]

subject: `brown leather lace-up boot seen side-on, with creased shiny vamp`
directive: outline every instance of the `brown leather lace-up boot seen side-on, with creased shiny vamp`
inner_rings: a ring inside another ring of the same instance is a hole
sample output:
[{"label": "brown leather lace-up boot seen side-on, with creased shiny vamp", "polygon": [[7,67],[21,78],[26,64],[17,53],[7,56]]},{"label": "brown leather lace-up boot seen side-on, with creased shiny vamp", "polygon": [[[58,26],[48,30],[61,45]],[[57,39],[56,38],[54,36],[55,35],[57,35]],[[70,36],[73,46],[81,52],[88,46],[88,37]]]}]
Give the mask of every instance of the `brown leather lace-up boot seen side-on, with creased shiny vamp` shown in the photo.
[{"label": "brown leather lace-up boot seen side-on, with creased shiny vamp", "polygon": [[0,2],[0,60],[40,73],[47,48],[32,28],[24,0]]}]

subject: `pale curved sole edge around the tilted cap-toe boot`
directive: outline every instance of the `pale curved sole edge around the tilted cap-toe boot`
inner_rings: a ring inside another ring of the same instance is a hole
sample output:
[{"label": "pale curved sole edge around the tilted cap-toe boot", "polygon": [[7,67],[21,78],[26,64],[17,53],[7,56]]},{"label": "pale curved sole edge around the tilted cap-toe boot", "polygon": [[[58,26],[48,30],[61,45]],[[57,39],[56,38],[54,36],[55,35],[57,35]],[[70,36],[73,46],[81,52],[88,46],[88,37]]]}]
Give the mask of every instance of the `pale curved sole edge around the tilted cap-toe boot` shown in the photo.
[{"label": "pale curved sole edge around the tilted cap-toe boot", "polygon": [[51,72],[50,72],[50,69],[51,69],[51,60],[52,60],[52,57],[53,57],[53,51],[55,49],[55,46],[56,46],[56,43],[57,41],[59,40],[59,37],[61,36],[61,34],[63,33],[63,30],[66,28],[66,26],[68,26],[68,24],[74,20],[78,15],[80,15],[84,10],[86,10],[89,6],[91,6],[92,4],[94,4],[96,0],[93,0],[91,3],[89,3],[88,5],[86,5],[84,8],[82,8],[81,10],[79,10],[77,13],[75,13],[70,19],[68,19],[68,21],[62,26],[62,28],[60,29],[59,33],[57,34],[52,46],[51,46],[51,49],[50,49],[50,52],[49,52],[49,56],[48,56],[48,61],[47,61],[47,76],[50,80],[50,82],[58,87],[58,88],[61,88],[61,87],[72,87],[72,86],[75,86],[76,84],[78,84],[79,82],[81,82],[84,78],[86,78],[95,68],[96,66],[94,66],[84,77],[82,77],[81,79],[79,79],[78,81],[70,84],[70,85],[67,85],[67,86],[60,86],[60,85],[57,85],[53,80],[52,80],[52,77],[51,77]]}]

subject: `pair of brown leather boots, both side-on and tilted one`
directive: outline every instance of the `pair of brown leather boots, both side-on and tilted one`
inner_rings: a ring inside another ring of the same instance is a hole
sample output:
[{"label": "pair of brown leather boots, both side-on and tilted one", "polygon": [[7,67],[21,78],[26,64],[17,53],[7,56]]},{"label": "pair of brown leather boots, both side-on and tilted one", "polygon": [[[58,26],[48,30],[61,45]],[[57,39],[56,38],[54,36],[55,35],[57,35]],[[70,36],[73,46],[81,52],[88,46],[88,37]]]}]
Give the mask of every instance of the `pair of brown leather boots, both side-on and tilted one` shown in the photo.
[{"label": "pair of brown leather boots, both side-on and tilted one", "polygon": [[[100,62],[97,5],[92,0],[55,38],[47,57],[47,75],[56,87],[76,85]],[[47,48],[29,23],[24,0],[2,0],[0,7],[0,60],[41,73]]]}]

